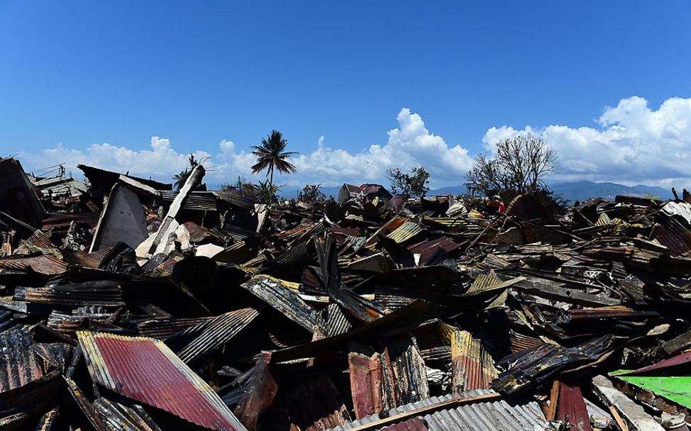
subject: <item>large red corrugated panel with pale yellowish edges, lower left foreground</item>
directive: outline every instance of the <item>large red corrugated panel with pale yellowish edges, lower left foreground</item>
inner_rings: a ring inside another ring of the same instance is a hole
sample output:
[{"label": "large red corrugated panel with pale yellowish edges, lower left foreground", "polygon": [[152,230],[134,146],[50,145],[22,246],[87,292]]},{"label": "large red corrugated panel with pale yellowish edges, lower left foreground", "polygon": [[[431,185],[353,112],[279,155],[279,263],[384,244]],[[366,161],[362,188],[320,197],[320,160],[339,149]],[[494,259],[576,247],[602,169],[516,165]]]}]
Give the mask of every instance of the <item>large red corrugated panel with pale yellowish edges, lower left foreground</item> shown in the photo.
[{"label": "large red corrugated panel with pale yellowish edges, lower left foreground", "polygon": [[89,374],[101,386],[210,430],[245,430],[214,390],[160,340],[77,335]]}]

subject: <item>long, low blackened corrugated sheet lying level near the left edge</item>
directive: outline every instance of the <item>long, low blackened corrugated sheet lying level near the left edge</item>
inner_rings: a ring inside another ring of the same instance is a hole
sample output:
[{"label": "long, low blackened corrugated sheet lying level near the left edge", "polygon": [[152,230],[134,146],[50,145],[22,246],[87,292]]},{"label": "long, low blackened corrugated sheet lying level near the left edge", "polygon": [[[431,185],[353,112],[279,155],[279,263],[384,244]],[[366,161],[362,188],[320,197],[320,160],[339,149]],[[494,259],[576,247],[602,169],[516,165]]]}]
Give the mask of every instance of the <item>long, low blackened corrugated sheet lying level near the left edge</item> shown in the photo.
[{"label": "long, low blackened corrugated sheet lying level near the left edge", "polygon": [[15,301],[65,306],[124,306],[120,286],[114,281],[89,281],[52,287],[14,289]]}]

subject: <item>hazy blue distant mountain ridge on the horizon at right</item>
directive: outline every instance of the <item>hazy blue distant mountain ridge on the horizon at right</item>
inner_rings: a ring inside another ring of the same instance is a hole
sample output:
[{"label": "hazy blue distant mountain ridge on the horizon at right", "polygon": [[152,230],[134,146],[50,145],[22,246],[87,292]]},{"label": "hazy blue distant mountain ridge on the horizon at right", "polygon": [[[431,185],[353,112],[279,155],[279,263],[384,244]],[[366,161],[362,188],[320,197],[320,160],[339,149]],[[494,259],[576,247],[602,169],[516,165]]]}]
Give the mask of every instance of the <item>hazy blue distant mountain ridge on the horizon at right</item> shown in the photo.
[{"label": "hazy blue distant mountain ridge on the horizon at right", "polygon": [[[559,182],[549,184],[550,189],[555,194],[564,199],[571,201],[585,201],[589,198],[607,198],[613,199],[614,196],[656,196],[660,199],[671,199],[672,191],[658,186],[646,186],[639,184],[637,186],[624,186],[624,184],[617,183],[596,183],[593,181],[571,181]],[[467,189],[465,186],[448,186],[441,187],[441,189],[433,189],[429,191],[430,195],[441,194],[465,194]]]}]

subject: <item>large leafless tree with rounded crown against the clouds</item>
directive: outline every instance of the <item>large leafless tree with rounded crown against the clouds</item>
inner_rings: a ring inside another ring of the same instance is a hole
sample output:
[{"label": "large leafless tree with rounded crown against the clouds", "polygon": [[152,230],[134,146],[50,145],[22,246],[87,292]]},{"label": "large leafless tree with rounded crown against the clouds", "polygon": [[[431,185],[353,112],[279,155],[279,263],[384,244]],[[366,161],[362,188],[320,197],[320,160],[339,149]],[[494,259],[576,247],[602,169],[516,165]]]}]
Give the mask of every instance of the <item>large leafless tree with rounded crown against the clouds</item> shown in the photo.
[{"label": "large leafless tree with rounded crown against the clouds", "polygon": [[497,143],[494,158],[477,155],[465,177],[485,196],[509,203],[519,194],[546,189],[543,177],[558,167],[554,150],[542,138],[526,133]]}]

